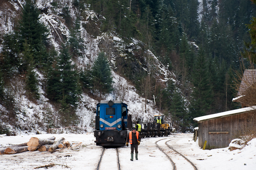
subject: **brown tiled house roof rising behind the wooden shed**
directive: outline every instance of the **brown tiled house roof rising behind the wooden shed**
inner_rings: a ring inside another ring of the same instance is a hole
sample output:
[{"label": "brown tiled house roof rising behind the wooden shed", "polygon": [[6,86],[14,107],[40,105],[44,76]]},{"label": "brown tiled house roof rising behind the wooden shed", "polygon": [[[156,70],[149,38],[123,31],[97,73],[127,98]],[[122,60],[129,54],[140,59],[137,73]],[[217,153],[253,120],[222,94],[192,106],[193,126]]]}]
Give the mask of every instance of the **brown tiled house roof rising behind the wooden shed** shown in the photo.
[{"label": "brown tiled house roof rising behind the wooden shed", "polygon": [[237,96],[241,96],[253,83],[256,82],[256,70],[244,70],[243,79]]}]

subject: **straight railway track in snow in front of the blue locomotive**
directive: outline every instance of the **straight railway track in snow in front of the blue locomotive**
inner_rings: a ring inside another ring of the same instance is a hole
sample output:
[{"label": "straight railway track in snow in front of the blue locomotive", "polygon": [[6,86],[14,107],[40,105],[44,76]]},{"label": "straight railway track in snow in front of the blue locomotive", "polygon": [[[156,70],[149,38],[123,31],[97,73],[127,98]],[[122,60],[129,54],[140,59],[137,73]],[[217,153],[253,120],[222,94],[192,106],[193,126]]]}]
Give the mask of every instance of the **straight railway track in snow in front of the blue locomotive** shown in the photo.
[{"label": "straight railway track in snow in front of the blue locomotive", "polygon": [[[113,152],[116,150],[116,152]],[[105,155],[105,156],[103,156]],[[114,159],[116,156],[116,159]],[[108,159],[109,157],[112,157],[113,159]],[[104,160],[106,158],[106,160]],[[117,164],[116,164],[117,163]],[[116,165],[116,166],[115,166]],[[118,148],[104,148],[102,150],[100,160],[97,165],[97,170],[100,170],[100,167],[111,167],[111,169],[118,169],[121,170],[120,168],[120,162],[119,162],[119,151]],[[103,169],[103,168],[102,168]]]}]

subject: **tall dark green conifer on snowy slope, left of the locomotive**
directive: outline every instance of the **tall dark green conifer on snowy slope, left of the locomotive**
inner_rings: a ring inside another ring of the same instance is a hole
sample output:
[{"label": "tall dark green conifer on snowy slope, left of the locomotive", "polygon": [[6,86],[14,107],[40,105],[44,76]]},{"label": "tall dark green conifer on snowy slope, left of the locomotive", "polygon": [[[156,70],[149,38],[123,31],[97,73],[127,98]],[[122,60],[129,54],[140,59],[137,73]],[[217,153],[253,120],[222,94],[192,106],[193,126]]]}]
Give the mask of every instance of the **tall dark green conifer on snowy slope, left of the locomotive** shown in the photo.
[{"label": "tall dark green conifer on snowy slope, left of the locomotive", "polygon": [[55,69],[48,76],[47,94],[53,100],[61,102],[62,108],[75,107],[80,94],[78,74],[72,64],[72,56],[68,53],[67,45],[62,45]]}]

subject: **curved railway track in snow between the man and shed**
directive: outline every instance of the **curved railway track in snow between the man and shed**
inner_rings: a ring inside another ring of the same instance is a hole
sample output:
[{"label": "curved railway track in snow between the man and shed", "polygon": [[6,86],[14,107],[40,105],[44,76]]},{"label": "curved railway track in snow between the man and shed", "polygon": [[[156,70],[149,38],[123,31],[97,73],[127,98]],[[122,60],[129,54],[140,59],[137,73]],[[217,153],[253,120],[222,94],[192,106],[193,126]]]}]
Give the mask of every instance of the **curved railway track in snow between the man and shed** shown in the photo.
[{"label": "curved railway track in snow between the man and shed", "polygon": [[197,170],[197,167],[189,159],[167,144],[167,142],[179,138],[182,137],[164,138],[156,141],[155,144],[171,161],[173,170],[184,169],[184,167],[186,167],[186,170]]}]

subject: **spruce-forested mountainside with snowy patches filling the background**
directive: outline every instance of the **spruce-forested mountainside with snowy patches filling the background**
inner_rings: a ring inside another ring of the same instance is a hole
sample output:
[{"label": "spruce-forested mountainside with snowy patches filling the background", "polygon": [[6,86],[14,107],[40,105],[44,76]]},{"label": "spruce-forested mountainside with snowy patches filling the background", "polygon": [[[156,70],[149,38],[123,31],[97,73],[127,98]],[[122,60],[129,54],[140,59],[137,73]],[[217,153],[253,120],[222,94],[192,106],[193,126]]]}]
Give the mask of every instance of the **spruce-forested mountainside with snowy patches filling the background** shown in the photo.
[{"label": "spruce-forested mountainside with snowy patches filling the background", "polygon": [[[154,103],[180,132],[241,107],[232,99],[255,56],[252,1],[0,0],[0,134],[93,127],[81,107],[109,94],[125,102],[113,74],[141,98],[131,114],[152,118]],[[21,98],[42,105],[33,120]]]}]

